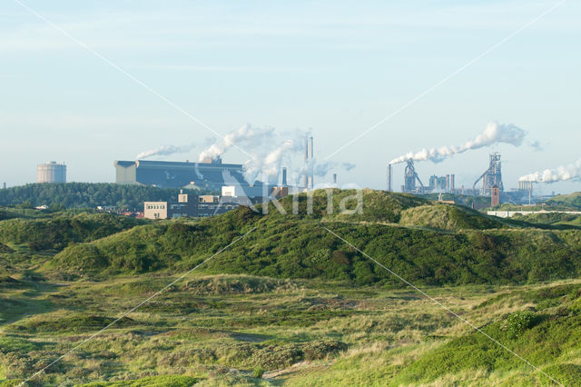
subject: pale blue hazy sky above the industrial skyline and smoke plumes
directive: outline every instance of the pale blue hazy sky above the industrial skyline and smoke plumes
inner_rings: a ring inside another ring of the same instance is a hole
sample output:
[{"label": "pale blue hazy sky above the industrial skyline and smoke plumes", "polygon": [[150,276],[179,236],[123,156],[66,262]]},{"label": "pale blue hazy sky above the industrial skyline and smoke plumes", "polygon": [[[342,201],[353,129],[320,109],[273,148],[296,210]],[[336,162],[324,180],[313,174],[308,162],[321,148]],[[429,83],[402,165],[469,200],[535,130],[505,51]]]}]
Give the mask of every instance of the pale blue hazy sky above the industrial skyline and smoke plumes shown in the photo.
[{"label": "pale blue hazy sky above the industrial skyline and smoke plumes", "polygon": [[[525,142],[417,163],[422,180],[456,174],[471,187],[500,152],[511,188],[581,158],[576,1],[490,52],[558,2],[18,1],[74,39],[16,1],[0,4],[8,186],[34,183],[36,164],[50,160],[67,164],[69,181],[113,182],[114,160],[183,144],[194,148],[163,159],[195,160],[216,134],[247,123],[310,130],[319,160],[356,165],[330,171],[341,184],[375,189],[385,189],[389,160],[464,144],[490,121],[517,125]],[[237,149],[222,156],[247,159]],[[394,186],[402,176],[396,166]],[[574,191],[580,182],[537,186]]]}]

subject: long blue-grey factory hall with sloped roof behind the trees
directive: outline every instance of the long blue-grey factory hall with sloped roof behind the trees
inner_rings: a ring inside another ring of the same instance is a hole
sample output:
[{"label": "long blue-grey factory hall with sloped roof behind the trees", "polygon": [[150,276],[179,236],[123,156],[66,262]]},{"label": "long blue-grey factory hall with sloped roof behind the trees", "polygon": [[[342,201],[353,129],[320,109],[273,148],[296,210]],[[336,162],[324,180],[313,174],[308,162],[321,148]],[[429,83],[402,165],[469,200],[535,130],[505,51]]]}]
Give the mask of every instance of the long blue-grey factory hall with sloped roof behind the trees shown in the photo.
[{"label": "long blue-grey factory hall with sloped roof behind the trees", "polygon": [[199,188],[219,191],[223,185],[248,185],[241,164],[222,164],[220,157],[202,163],[115,161],[115,182],[163,188]]}]

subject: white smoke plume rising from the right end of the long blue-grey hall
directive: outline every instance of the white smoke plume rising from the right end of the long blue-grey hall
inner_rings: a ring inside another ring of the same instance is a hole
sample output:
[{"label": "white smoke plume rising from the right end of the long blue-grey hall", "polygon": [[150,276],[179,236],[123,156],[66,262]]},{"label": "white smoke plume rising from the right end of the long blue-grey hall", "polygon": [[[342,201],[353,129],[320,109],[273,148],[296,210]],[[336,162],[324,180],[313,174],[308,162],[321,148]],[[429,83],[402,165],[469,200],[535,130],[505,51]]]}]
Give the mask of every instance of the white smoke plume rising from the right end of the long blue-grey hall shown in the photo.
[{"label": "white smoke plume rising from the right end of the long blue-grey hall", "polygon": [[[244,124],[240,129],[226,134],[217,143],[202,151],[198,156],[198,161],[202,162],[208,158],[215,159],[234,145],[242,145],[242,149],[247,151],[247,147],[251,148],[254,144],[261,144],[269,140],[273,132],[274,128],[255,128],[251,124]],[[251,146],[244,146],[245,144]]]}]

